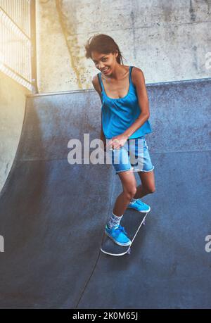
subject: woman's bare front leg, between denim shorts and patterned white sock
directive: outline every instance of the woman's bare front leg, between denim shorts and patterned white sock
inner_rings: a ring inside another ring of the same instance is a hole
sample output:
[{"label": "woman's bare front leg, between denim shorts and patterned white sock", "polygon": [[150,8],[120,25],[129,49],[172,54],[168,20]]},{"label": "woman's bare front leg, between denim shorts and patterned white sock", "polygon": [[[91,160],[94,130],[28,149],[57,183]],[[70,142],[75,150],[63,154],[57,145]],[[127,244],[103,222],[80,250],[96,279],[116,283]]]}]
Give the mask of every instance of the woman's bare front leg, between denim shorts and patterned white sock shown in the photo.
[{"label": "woman's bare front leg, between denim shorts and patterned white sock", "polygon": [[127,205],[136,194],[136,179],[134,173],[130,170],[118,173],[122,182],[122,193],[117,197],[113,214],[120,217],[127,209]]}]

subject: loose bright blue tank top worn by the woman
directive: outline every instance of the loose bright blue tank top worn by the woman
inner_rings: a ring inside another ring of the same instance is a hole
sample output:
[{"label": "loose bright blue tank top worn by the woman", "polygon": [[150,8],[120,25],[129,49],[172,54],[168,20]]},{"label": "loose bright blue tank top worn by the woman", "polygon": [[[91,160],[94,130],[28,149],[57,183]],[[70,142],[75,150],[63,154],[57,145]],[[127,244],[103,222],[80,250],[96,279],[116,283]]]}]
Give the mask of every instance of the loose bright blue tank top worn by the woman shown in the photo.
[{"label": "loose bright blue tank top worn by the woman", "polygon": [[[101,101],[102,101],[102,127],[106,139],[111,139],[118,134],[122,134],[129,128],[132,123],[139,117],[141,110],[139,108],[136,87],[132,83],[133,66],[129,66],[129,91],[123,98],[112,99],[107,96],[101,79],[101,72],[98,73],[98,79],[101,82]],[[144,134],[152,132],[151,125],[148,120],[137,129],[129,139],[139,138]]]}]

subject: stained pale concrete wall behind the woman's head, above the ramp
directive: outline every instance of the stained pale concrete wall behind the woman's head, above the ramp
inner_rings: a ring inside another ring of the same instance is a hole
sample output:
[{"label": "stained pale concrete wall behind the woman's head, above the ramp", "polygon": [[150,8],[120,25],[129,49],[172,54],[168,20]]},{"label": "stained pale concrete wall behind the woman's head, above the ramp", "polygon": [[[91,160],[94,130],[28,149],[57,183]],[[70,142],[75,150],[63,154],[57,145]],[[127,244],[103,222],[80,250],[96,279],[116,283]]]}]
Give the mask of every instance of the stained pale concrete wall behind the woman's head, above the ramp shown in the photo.
[{"label": "stained pale concrete wall behind the woman's head, above the ramp", "polygon": [[146,82],[210,77],[211,0],[39,0],[37,56],[39,91],[92,88],[97,70],[84,44],[109,34],[124,65],[141,68]]}]

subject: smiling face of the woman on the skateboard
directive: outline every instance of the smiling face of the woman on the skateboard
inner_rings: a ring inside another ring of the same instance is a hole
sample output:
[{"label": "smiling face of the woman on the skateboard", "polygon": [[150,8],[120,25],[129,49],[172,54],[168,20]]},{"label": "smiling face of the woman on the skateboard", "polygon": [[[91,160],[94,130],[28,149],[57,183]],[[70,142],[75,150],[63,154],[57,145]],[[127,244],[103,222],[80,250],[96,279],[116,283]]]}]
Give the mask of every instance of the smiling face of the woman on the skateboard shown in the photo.
[{"label": "smiling face of the woman on the skateboard", "polygon": [[91,52],[91,59],[94,61],[94,64],[98,70],[100,70],[103,74],[109,75],[113,68],[115,68],[115,64],[117,63],[118,53],[98,53],[98,51]]}]

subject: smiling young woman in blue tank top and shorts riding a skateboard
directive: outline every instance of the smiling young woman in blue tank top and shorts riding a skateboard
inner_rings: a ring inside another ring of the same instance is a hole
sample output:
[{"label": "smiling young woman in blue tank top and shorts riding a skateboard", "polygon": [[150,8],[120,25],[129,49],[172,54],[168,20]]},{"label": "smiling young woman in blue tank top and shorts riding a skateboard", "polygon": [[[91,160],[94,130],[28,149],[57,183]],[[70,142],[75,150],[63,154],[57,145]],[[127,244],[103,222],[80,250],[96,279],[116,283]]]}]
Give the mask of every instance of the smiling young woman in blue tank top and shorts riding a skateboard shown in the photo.
[{"label": "smiling young woman in blue tank top and shorts riding a skateboard", "polygon": [[[131,241],[120,225],[124,211],[133,208],[142,213],[149,212],[150,206],[141,198],[155,191],[154,166],[145,139],[145,134],[152,132],[145,78],[141,69],[123,65],[119,47],[106,34],[89,38],[85,49],[86,57],[91,58],[101,71],[92,81],[102,102],[101,140],[104,150],[106,141],[112,148],[115,174],[120,177],[123,188],[105,232],[118,245],[129,246]],[[138,172],[141,179],[138,187],[134,172]]]}]

